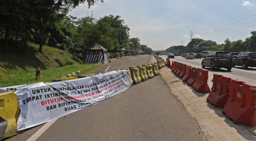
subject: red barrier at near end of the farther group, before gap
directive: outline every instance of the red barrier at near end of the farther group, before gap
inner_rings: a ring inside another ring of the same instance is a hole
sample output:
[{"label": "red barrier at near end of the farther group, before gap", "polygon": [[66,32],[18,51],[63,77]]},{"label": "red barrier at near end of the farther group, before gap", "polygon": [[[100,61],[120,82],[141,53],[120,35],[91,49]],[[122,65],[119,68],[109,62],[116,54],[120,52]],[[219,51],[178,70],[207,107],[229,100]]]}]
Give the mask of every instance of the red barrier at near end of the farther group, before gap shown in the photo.
[{"label": "red barrier at near end of the farther group, before gap", "polygon": [[210,88],[208,86],[208,70],[203,68],[197,68],[197,76],[196,81],[193,84],[192,88],[197,92],[210,92]]}]

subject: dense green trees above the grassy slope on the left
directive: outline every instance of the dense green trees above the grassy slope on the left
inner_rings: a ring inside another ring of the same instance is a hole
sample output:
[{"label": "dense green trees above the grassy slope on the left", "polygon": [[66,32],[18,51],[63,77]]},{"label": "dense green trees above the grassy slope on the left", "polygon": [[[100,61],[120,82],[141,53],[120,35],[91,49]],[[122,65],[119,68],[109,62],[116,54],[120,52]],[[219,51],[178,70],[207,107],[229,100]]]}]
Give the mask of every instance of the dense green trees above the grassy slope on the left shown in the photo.
[{"label": "dense green trees above the grassy slope on the left", "polygon": [[[87,2],[89,8],[98,0],[0,0],[0,38],[8,51],[9,41],[24,41],[84,53],[84,49],[95,43],[109,52],[123,49],[152,49],[141,45],[138,38],[130,38],[129,27],[120,16],[104,16],[96,19],[91,15],[81,19],[67,16],[80,3]],[[103,0],[100,0],[103,2]],[[25,44],[24,44],[25,46]]]}]

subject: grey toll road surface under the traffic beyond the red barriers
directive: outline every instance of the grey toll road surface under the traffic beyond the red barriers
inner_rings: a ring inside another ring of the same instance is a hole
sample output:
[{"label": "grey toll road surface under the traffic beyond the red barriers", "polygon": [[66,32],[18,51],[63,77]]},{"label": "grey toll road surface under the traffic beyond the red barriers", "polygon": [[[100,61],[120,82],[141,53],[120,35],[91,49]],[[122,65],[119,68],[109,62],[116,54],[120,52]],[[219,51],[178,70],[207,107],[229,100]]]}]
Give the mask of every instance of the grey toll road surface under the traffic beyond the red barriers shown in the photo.
[{"label": "grey toll road surface under the traffic beyond the red barriers", "polygon": [[[167,56],[163,56],[162,58],[165,60]],[[185,59],[178,56],[178,57],[175,57],[174,59],[170,58],[170,60],[171,62],[172,60],[175,60],[187,65],[190,65],[192,67],[201,68],[202,59]],[[228,71],[226,68],[220,68],[220,69],[215,68],[215,70],[210,70],[210,67],[205,67],[204,69],[208,70],[210,75],[213,75],[213,74],[224,75],[227,77],[231,77],[232,79],[238,79],[240,81],[244,81],[244,82],[256,85],[256,68],[255,67],[248,67],[247,69],[243,69],[242,66],[236,66],[236,67],[232,67],[231,71]]]}]

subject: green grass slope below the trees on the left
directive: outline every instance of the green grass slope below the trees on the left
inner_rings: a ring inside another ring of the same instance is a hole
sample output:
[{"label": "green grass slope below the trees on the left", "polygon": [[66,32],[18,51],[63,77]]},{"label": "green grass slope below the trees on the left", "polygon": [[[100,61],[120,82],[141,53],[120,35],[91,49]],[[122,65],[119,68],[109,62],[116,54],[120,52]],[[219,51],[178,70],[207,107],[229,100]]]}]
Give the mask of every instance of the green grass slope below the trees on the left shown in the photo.
[{"label": "green grass slope below the trees on the left", "polygon": [[[0,39],[0,49],[4,40]],[[38,52],[39,45],[9,41],[9,51],[0,52],[0,87],[15,86],[36,82],[51,82],[61,76],[75,71],[86,73],[100,65],[83,63],[82,60],[67,51],[43,46],[43,52]],[[40,79],[36,79],[36,68],[40,66]]]}]

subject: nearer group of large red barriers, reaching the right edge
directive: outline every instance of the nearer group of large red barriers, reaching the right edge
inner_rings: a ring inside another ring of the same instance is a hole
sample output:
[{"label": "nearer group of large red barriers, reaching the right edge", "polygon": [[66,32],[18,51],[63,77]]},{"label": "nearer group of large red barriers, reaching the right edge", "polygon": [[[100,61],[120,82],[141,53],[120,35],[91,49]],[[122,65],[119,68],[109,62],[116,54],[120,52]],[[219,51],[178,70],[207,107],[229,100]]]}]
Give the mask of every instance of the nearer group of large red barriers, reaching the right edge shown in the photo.
[{"label": "nearer group of large red barriers, reaching the right edge", "polygon": [[256,86],[223,75],[213,74],[213,85],[207,97],[214,107],[235,124],[256,125]]}]

